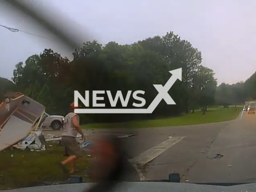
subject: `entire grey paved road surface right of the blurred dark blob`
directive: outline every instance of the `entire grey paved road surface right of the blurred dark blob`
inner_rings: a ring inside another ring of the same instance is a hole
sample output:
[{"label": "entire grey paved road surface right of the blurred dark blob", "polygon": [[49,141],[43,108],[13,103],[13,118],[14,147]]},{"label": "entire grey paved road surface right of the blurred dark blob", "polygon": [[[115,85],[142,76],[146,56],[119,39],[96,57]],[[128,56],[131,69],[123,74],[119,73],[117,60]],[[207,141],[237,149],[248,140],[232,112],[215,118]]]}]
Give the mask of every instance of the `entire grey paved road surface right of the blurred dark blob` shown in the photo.
[{"label": "entire grey paved road surface right of the blurred dark blob", "polygon": [[[112,130],[124,138],[131,163],[127,180],[168,179],[178,172],[182,182],[256,181],[256,116],[196,126]],[[86,130],[89,138],[108,130]],[[254,139],[255,138],[255,139]],[[207,156],[222,154],[222,158]],[[230,167],[231,165],[232,167]],[[188,181],[189,180],[189,181]]]}]

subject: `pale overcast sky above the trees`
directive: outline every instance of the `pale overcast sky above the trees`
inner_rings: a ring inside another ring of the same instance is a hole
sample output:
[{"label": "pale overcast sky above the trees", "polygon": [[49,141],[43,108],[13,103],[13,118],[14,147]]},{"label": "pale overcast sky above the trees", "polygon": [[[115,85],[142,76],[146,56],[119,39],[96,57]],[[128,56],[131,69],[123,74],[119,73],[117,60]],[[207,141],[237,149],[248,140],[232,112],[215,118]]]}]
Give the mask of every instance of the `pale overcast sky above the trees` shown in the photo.
[{"label": "pale overcast sky above the trees", "polygon": [[[26,0],[27,2],[35,2]],[[202,65],[215,72],[218,84],[245,81],[256,71],[255,0],[37,0],[68,19],[82,41],[131,44],[173,31],[202,52]],[[54,18],[54,16],[52,17]],[[0,77],[12,78],[15,65],[44,48],[71,56],[52,36],[28,18],[0,6]]]}]

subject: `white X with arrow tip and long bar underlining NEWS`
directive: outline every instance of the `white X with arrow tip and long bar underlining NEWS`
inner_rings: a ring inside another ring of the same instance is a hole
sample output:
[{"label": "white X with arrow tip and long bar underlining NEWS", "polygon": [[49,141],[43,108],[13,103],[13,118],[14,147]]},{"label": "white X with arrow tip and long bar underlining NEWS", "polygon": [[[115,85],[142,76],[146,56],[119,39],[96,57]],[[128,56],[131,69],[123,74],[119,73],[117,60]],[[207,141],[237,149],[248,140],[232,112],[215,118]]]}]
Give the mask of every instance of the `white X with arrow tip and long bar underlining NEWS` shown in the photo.
[{"label": "white X with arrow tip and long bar underlining NEWS", "polygon": [[176,105],[174,100],[168,94],[168,91],[170,90],[170,88],[173,86],[173,84],[176,82],[177,79],[179,79],[180,81],[182,80],[182,68],[178,68],[176,70],[172,70],[169,72],[172,74],[172,76],[166,82],[166,84],[164,86],[159,85],[159,84],[153,85],[156,88],[156,90],[158,91],[158,95],[156,96],[156,98],[154,98],[154,100],[152,101],[150,106],[148,106],[147,109],[104,109],[104,108],[103,109],[75,109],[74,112],[77,114],[78,113],[87,113],[87,114],[88,113],[91,113],[91,114],[96,114],[96,113],[98,113],[98,114],[152,113],[162,99],[164,99],[168,105]]}]

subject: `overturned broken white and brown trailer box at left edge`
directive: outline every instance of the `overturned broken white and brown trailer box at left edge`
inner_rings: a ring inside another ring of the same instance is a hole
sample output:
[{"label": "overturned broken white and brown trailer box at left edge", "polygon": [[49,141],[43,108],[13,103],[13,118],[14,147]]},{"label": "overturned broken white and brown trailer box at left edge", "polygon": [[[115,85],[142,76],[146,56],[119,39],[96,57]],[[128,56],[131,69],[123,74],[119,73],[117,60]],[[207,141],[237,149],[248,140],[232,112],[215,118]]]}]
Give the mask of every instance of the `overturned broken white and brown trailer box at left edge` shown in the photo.
[{"label": "overturned broken white and brown trailer box at left edge", "polygon": [[13,146],[42,124],[45,107],[22,93],[7,93],[0,104],[0,151]]}]

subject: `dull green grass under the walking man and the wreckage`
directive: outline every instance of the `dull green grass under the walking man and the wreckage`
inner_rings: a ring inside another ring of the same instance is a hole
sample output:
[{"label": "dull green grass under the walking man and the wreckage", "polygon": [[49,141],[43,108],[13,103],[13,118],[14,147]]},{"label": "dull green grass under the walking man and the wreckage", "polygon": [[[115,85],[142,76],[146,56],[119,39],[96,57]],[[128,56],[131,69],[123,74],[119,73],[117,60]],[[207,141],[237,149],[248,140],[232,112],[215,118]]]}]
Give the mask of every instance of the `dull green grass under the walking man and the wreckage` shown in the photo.
[{"label": "dull green grass under the walking man and the wreckage", "polygon": [[[0,152],[0,190],[36,186],[44,182],[63,181],[63,172],[58,166],[64,160],[64,148],[56,143],[42,152],[7,149]],[[13,156],[11,156],[13,155]],[[86,156],[78,159],[76,168],[84,181],[88,180]]]}]

